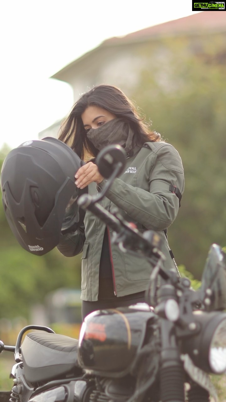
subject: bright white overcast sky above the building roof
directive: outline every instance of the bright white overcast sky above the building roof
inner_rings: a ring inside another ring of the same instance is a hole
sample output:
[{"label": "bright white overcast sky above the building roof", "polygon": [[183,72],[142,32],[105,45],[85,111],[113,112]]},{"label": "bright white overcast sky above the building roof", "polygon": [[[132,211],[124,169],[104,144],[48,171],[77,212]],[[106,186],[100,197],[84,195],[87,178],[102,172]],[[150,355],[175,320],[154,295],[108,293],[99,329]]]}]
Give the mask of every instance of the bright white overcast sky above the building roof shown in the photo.
[{"label": "bright white overcast sky above the building roof", "polygon": [[105,39],[194,14],[191,0],[2,0],[0,148],[37,139],[73,104],[53,74]]}]

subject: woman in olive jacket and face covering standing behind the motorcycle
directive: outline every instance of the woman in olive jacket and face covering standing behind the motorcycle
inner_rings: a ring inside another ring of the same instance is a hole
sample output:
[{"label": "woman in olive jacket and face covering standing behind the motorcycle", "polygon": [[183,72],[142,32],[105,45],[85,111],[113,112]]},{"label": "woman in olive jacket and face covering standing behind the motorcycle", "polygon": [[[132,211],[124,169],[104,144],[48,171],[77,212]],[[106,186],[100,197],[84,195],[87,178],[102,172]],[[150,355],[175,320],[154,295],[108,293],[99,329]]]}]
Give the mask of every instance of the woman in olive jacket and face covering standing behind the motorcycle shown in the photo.
[{"label": "woman in olive jacket and face covering standing behind the motorcycle", "polygon": [[[177,270],[166,237],[184,190],[183,166],[175,148],[150,131],[127,96],[109,85],[96,86],[81,96],[59,139],[70,144],[81,159],[94,158],[75,175],[77,187],[88,186],[91,195],[105,184],[95,164],[98,152],[109,144],[125,148],[125,173],[114,180],[101,204],[109,211],[116,205],[140,231],[158,231],[166,256],[164,267]],[[82,252],[83,319],[94,310],[145,301],[149,263],[121,252],[111,244],[111,236],[111,229],[87,211],[78,230],[62,235],[58,245],[65,256]]]}]

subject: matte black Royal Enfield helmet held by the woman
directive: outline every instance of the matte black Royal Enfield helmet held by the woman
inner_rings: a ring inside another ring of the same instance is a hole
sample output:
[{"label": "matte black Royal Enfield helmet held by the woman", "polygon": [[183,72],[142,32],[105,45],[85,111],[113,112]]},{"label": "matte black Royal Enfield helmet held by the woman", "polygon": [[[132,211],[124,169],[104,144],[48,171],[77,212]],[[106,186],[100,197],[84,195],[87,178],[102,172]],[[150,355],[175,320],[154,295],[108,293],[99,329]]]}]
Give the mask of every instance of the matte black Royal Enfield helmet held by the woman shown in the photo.
[{"label": "matte black Royal Enfield helmet held by the woman", "polygon": [[[25,250],[43,255],[60,234],[80,225],[79,190],[74,175],[84,162],[66,144],[46,137],[27,141],[6,156],[0,178],[8,224]],[[81,216],[82,214],[82,216]]]}]

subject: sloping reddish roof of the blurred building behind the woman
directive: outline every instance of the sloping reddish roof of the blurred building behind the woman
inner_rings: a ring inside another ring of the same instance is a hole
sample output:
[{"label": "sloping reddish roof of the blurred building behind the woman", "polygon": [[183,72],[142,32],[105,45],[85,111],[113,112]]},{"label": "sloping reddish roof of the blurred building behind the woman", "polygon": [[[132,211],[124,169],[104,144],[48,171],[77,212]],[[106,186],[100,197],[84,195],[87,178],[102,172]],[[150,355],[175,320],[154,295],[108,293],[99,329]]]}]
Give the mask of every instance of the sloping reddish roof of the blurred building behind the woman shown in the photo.
[{"label": "sloping reddish roof of the blurred building behind the woman", "polygon": [[126,43],[136,43],[154,39],[158,36],[180,35],[183,33],[200,33],[202,31],[226,31],[226,13],[223,11],[201,11],[191,14],[187,17],[178,18],[177,20],[168,21],[163,24],[154,25],[140,31],[129,33],[122,37],[112,37],[103,41],[98,47],[88,51],[72,63],[68,64],[62,70],[54,74],[51,78],[59,79],[63,72],[69,70],[75,64],[79,63],[91,53],[103,47],[120,46]]}]

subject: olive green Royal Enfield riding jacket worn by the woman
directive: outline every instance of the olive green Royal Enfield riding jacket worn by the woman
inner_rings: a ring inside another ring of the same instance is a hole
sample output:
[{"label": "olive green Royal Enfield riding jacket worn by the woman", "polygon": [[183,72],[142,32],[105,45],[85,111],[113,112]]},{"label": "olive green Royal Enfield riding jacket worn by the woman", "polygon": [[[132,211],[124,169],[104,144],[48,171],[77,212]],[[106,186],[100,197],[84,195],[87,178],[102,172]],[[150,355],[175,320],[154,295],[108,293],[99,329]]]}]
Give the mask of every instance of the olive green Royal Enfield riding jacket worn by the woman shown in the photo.
[{"label": "olive green Royal Enfield riding jacket worn by the woman", "polygon": [[[97,194],[105,180],[96,187],[88,186],[91,195]],[[136,147],[134,154],[126,160],[125,172],[116,178],[106,196],[100,202],[108,211],[115,205],[129,222],[138,229],[155,230],[163,240],[162,252],[166,256],[163,267],[177,270],[164,230],[174,221],[179,209],[179,199],[170,190],[177,187],[184,191],[184,174],[181,158],[173,146],[165,142],[147,142]],[[172,187],[171,187],[172,189]],[[57,248],[64,256],[72,257],[82,252],[81,299],[96,301],[99,287],[99,264],[105,224],[86,212],[84,224],[74,233],[61,235]],[[109,229],[109,238],[112,230]],[[152,268],[140,256],[124,253],[116,244],[109,244],[115,295],[124,296],[148,287]]]}]

